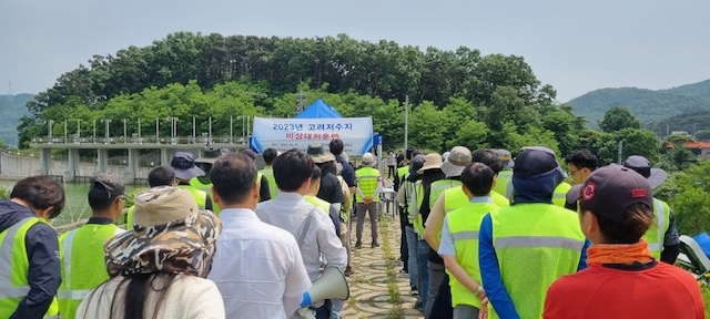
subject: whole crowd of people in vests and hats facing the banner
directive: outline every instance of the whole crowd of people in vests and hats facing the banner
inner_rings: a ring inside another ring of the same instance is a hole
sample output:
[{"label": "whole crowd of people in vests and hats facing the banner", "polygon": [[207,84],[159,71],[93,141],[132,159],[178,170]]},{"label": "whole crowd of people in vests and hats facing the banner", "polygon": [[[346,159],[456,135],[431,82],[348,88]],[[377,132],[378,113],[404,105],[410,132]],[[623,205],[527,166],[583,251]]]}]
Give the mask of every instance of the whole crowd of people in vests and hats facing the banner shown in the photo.
[{"label": "whole crowd of people in vests and hats facing the banner", "polygon": [[674,214],[653,198],[666,174],[642,156],[598,167],[578,151],[565,169],[540,146],[409,147],[388,152],[385,177],[372,153],[355,167],[343,141],[327,146],[267,148],[261,171],[250,150],[178,152],[132,207],[120,176],[97,174],[91,218],[59,237],[61,185],[18,182],[0,200],[0,318],[341,318],[344,300],[307,291],[326,268],[354,274],[352,237],[379,246],[386,179],[427,319],[704,318],[698,282],[672,266]]}]

